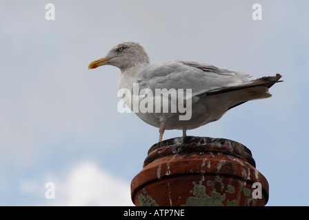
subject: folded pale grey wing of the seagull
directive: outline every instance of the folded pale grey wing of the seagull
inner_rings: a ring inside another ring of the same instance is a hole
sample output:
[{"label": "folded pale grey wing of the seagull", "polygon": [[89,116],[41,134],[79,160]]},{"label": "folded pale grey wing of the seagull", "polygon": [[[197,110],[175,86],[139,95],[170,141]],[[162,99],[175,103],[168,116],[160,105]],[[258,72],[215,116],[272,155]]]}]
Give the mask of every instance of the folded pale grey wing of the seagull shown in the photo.
[{"label": "folded pale grey wing of the seagull", "polygon": [[250,75],[189,61],[169,61],[152,65],[138,76],[139,88],[192,89],[192,96],[243,85]]}]

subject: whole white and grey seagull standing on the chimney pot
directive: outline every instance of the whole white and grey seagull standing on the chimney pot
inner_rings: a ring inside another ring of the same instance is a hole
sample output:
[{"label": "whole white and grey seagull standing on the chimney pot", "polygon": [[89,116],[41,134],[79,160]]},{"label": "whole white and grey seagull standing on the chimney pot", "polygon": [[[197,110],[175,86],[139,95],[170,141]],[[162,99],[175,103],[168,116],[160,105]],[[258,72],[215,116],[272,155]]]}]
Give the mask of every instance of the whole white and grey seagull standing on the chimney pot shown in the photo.
[{"label": "whole white and grey seagull standing on the chimney pot", "polygon": [[[112,65],[121,70],[119,91],[129,91],[121,98],[141,120],[159,128],[159,142],[165,130],[182,130],[185,137],[187,130],[215,122],[239,104],[270,98],[272,95],[268,89],[281,82],[280,74],[250,80],[250,74],[192,61],[175,60],[150,65],[143,47],[130,41],[118,43],[106,56],[92,61],[88,69],[102,65]],[[134,85],[138,86],[135,91],[143,93],[134,94]],[[168,91],[168,94],[157,95],[157,91]],[[170,91],[179,93],[172,98]],[[136,111],[134,98],[137,98],[137,107],[141,102],[147,102],[145,107],[153,107],[154,110]],[[168,111],[164,111],[164,103],[170,104]],[[182,109],[171,111],[172,107],[179,107],[177,104],[183,104]],[[187,118],[183,112],[185,105]],[[185,119],[181,120],[181,116]]]}]

